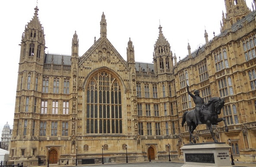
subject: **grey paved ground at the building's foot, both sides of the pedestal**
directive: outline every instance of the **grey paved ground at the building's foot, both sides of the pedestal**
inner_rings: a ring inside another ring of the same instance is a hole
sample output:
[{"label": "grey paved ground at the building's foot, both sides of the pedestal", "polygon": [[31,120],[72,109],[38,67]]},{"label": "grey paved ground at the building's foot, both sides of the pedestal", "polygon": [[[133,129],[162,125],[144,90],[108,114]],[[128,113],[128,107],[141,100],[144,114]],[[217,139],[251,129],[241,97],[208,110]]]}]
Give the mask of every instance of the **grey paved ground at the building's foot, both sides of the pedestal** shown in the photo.
[{"label": "grey paved ground at the building's foot, both sides of the pedestal", "polygon": [[[161,160],[152,160],[151,162],[131,162],[131,163],[105,163],[105,164],[78,164],[75,166],[73,164],[70,165],[57,165],[57,164],[50,164],[49,167],[182,167],[184,164],[183,160],[172,160],[169,161],[161,161]],[[230,162],[231,165],[231,162]],[[46,166],[39,166],[39,167],[46,167]],[[232,167],[256,167],[256,162],[234,162]]]}]

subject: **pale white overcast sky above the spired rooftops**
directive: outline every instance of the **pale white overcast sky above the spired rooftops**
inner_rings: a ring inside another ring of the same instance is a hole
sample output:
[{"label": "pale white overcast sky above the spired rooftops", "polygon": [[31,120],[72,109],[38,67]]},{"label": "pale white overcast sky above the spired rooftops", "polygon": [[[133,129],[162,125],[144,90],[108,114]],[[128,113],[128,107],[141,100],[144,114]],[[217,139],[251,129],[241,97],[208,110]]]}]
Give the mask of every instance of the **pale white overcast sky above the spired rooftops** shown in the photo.
[{"label": "pale white overcast sky above the spired rooftops", "polygon": [[[246,0],[251,9],[252,0]],[[127,60],[129,38],[134,45],[135,61],[152,62],[159,23],[171,50],[179,57],[220,33],[224,0],[5,0],[0,5],[1,118],[13,125],[18,77],[21,35],[38,6],[39,20],[44,27],[46,53],[71,55],[73,34],[78,34],[79,56],[100,37],[102,12],[106,15],[107,38]],[[160,20],[160,22],[159,22]]]}]

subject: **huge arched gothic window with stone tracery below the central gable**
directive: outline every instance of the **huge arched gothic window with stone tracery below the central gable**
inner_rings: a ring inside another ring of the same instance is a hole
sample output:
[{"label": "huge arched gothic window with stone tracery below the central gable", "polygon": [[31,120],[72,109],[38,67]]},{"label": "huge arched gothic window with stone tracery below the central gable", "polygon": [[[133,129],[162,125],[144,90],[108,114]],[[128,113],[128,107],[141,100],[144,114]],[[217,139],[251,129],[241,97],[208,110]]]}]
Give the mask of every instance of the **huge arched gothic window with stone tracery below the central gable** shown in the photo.
[{"label": "huge arched gothic window with stone tracery below the central gable", "polygon": [[121,85],[100,71],[86,85],[86,133],[123,133]]}]

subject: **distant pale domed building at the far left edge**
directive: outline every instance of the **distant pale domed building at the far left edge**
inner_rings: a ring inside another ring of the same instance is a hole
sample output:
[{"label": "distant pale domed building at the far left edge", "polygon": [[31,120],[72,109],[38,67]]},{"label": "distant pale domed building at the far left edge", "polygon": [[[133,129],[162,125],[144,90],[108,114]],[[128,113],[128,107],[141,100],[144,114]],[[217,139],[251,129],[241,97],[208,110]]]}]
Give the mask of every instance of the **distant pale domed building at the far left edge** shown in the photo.
[{"label": "distant pale domed building at the far left edge", "polygon": [[12,136],[12,129],[10,128],[10,125],[8,124],[8,122],[6,122],[2,130],[1,148],[8,150],[11,136]]}]

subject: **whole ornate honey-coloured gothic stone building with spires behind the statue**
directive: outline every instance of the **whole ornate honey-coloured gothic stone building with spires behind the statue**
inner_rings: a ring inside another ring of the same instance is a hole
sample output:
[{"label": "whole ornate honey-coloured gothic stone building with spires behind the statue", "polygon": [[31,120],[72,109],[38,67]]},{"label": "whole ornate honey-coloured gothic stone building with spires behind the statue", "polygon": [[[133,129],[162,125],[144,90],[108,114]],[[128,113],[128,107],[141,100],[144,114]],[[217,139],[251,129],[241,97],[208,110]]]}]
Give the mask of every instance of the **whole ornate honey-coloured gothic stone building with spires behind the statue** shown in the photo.
[{"label": "whole ornate honey-coloured gothic stone building with spires behind the statue", "polygon": [[[256,11],[244,0],[224,2],[221,33],[208,39],[202,32],[205,44],[194,52],[188,44],[180,61],[159,26],[153,63],[135,61],[131,39],[126,60],[117,52],[104,13],[100,38],[82,56],[76,32],[70,56],[45,53],[35,7],[20,43],[8,163],[37,166],[38,157],[49,164],[120,163],[126,156],[129,162],[167,161],[169,153],[184,159],[180,148],[189,132],[182,115],[195,108],[187,85],[204,102],[225,99],[219,117],[229,132],[220,122],[214,135],[219,142],[230,139],[235,161],[256,162]],[[193,135],[197,143],[213,142],[206,125]]]}]

